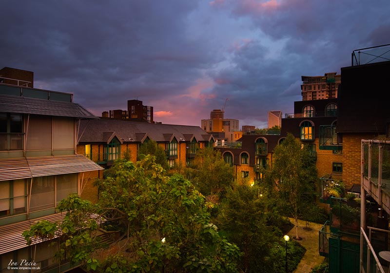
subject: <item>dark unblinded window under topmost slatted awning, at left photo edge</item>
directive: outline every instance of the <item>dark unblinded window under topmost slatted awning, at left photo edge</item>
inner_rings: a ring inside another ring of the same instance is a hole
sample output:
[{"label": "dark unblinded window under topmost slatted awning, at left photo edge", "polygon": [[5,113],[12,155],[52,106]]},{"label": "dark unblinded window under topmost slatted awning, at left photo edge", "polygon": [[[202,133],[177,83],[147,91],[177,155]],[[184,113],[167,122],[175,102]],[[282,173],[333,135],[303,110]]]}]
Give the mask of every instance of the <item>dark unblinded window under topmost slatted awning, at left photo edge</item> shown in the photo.
[{"label": "dark unblinded window under topmost slatted awning, at left photo edge", "polygon": [[22,115],[0,113],[0,150],[23,149]]}]

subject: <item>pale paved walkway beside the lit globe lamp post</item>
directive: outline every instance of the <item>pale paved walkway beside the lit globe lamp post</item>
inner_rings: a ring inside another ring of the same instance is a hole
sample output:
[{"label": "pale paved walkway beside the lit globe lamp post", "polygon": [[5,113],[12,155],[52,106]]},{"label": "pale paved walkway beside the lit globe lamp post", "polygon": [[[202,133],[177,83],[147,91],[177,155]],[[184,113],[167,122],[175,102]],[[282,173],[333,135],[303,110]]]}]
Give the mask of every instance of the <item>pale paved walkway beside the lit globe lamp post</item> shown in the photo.
[{"label": "pale paved walkway beside the lit globe lamp post", "polygon": [[[295,220],[292,218],[290,218],[290,222],[295,224]],[[325,257],[320,256],[318,250],[318,231],[322,226],[322,224],[310,223],[309,228],[311,230],[308,231],[304,229],[306,227],[306,221],[298,220],[298,235],[302,240],[298,240],[297,242],[306,248],[306,253],[293,273],[310,273],[314,266],[320,265],[324,261]],[[290,240],[294,240],[292,237],[296,236],[295,226],[288,235],[291,238]]]}]

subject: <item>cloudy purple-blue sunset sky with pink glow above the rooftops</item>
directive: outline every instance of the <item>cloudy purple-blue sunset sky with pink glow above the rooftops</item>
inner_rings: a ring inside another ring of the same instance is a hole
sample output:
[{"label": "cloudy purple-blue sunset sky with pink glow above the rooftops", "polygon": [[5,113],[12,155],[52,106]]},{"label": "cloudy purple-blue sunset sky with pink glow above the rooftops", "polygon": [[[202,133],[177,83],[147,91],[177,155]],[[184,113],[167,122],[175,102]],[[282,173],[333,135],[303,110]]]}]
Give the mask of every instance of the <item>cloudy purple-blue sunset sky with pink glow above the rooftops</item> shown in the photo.
[{"label": "cloudy purple-blue sunset sky with pink glow above the rooftops", "polygon": [[266,128],[293,112],[301,76],[340,73],[355,49],[390,43],[389,0],[1,0],[0,68],[101,112],[128,99],[155,121],[210,111]]}]

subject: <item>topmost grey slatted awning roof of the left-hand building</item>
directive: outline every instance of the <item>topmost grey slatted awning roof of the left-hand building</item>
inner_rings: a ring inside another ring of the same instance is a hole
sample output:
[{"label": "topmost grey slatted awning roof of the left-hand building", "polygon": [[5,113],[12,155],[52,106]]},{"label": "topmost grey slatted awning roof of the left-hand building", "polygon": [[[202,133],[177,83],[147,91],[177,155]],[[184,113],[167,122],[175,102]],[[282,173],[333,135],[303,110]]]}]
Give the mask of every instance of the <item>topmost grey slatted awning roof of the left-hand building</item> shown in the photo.
[{"label": "topmost grey slatted awning roof of the left-hand building", "polygon": [[0,95],[0,112],[97,118],[78,103],[9,95]]}]

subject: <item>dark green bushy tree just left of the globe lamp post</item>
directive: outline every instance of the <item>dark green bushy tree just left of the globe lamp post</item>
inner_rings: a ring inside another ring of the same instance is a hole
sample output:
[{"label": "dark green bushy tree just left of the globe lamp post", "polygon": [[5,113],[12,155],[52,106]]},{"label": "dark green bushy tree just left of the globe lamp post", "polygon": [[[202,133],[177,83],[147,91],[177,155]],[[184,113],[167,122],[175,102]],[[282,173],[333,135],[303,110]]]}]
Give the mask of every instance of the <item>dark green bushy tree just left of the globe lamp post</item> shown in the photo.
[{"label": "dark green bushy tree just left of the globe lamp post", "polygon": [[266,200],[259,196],[258,188],[248,185],[228,189],[226,198],[219,205],[218,226],[243,253],[242,272],[275,272],[275,261],[270,254],[282,233],[267,224],[267,210]]}]

